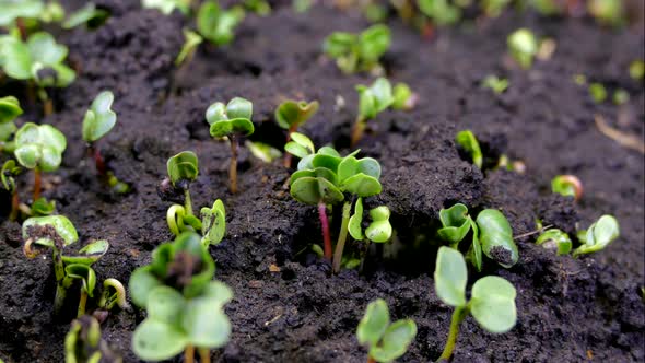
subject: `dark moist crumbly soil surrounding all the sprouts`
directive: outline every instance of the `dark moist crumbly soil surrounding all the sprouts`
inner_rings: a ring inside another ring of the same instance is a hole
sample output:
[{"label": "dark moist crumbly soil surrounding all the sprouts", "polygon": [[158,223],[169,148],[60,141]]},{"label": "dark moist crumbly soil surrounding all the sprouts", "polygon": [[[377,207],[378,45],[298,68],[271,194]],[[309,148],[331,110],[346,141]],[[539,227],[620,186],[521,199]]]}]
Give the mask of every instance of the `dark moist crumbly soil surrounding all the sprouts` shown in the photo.
[{"label": "dark moist crumbly soil surrounding all the sprouts", "polygon": [[[401,362],[429,362],[441,354],[452,308],[436,296],[432,272],[436,256],[438,211],[455,202],[471,210],[497,208],[515,235],[536,229],[542,219],[573,233],[603,213],[614,214],[621,236],[607,249],[574,259],[519,238],[519,262],[503,269],[488,261],[470,271],[470,281],[486,274],[509,280],[517,289],[517,326],[504,335],[482,330],[472,318],[461,325],[455,362],[643,362],[645,360],[644,159],[603,136],[594,118],[642,138],[643,84],[625,71],[643,59],[642,24],[613,31],[589,19],[543,19],[505,13],[495,20],[472,19],[425,39],[395,16],[394,43],[385,56],[388,77],[404,81],[419,94],[411,112],[386,112],[371,121],[359,145],[362,155],[383,166],[384,192],[367,206],[387,204],[396,230],[392,243],[372,246],[364,270],[338,276],[312,254],[320,244],[316,209],[294,201],[290,171],[277,161],[266,164],[243,148],[241,192],[227,190],[228,147],[213,141],[204,121],[215,101],[244,96],[254,102],[254,141],[284,144],[273,109],[281,99],[318,99],[320,110],[304,127],[317,145],[349,151],[356,114],[354,85],[366,75],[344,75],[320,54],[332,31],[368,25],[356,14],[322,5],[295,14],[290,1],[274,3],[267,17],[249,15],[230,47],[204,46],[192,61],[175,69],[185,19],[142,10],[138,1],[99,1],[113,13],[92,32],[58,35],[70,48],[80,74],[66,90],[52,93],[56,113],[42,117],[26,106],[27,120],[52,124],[68,138],[63,164],[44,177],[44,195],[75,224],[83,245],[92,238],[110,242],[95,265],[98,279],[127,282],[137,267],[149,264],[155,246],[171,239],[165,223],[169,203],[156,186],[166,160],[183,150],[199,155],[200,175],[191,185],[196,207],[221,198],[226,204],[227,234],[211,247],[216,278],[235,292],[226,307],[233,324],[230,343],[213,351],[216,362],[362,362],[366,351],[354,336],[366,304],[387,300],[394,318],[417,321],[418,336]],[[66,3],[73,8],[74,3]],[[548,61],[530,71],[505,56],[506,35],[528,26],[556,42]],[[480,87],[488,74],[508,78],[502,95]],[[628,105],[595,104],[574,74],[625,89]],[[83,114],[101,91],[116,95],[118,125],[98,148],[107,164],[133,187],[127,196],[110,194],[95,177],[81,140]],[[5,83],[0,95],[26,97],[21,84]],[[524,174],[482,173],[455,145],[454,137],[472,129],[486,157],[501,154],[524,162]],[[579,202],[552,195],[550,179],[575,174],[584,184]],[[31,174],[19,178],[28,200]],[[51,314],[55,281],[47,258],[27,260],[20,225],[7,221],[9,196],[0,195],[0,358],[5,362],[62,362],[71,315]],[[338,231],[339,211],[333,230]],[[73,296],[70,296],[74,308]],[[139,309],[112,314],[104,338],[126,362],[137,362],[131,333],[144,318]],[[172,360],[180,362],[180,358]]]}]

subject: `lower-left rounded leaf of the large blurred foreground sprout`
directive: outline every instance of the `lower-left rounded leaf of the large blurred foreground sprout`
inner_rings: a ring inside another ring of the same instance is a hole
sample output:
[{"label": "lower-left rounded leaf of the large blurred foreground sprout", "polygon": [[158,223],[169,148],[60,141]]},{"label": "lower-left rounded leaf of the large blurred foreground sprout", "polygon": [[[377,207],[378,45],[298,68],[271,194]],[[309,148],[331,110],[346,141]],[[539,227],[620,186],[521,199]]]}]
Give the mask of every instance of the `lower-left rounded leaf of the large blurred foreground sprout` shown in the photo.
[{"label": "lower-left rounded leaf of the large blurred foreground sprout", "polygon": [[132,335],[132,350],[145,361],[171,359],[187,344],[188,337],[178,327],[150,318],[143,320]]}]

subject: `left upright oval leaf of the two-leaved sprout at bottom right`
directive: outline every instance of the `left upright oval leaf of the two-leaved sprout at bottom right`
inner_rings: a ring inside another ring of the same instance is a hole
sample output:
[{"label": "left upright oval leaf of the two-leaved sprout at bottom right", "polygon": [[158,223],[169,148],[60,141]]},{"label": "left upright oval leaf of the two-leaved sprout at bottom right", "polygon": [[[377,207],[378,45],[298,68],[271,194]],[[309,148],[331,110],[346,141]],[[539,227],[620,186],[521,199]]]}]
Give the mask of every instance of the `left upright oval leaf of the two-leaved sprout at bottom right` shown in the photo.
[{"label": "left upright oval leaf of the two-leaved sprout at bottom right", "polygon": [[434,286],[437,296],[455,307],[466,305],[468,271],[464,256],[450,247],[439,247],[434,270]]}]

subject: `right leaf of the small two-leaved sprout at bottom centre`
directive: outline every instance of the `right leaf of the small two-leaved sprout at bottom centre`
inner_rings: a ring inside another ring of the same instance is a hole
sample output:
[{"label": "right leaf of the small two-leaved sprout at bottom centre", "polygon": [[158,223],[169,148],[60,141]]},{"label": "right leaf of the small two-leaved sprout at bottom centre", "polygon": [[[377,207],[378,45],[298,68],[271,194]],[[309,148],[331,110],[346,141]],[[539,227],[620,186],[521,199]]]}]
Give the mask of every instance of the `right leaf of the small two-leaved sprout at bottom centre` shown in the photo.
[{"label": "right leaf of the small two-leaved sprout at bottom centre", "polygon": [[383,344],[370,349],[370,356],[377,362],[392,362],[406,354],[417,336],[417,324],[401,319],[390,325],[383,336]]}]

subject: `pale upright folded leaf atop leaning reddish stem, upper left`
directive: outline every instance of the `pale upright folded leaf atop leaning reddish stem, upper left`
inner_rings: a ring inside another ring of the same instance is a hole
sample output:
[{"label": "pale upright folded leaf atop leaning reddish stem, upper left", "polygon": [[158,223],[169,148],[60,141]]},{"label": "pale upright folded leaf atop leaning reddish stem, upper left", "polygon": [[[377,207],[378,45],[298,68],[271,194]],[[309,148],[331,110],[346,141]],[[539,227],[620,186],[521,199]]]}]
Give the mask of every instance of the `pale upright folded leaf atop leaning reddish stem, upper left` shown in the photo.
[{"label": "pale upright folded leaf atop leaning reddish stem, upper left", "polygon": [[110,109],[114,94],[101,92],[92,102],[83,119],[83,140],[94,142],[109,132],[117,122],[117,114]]}]

